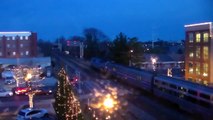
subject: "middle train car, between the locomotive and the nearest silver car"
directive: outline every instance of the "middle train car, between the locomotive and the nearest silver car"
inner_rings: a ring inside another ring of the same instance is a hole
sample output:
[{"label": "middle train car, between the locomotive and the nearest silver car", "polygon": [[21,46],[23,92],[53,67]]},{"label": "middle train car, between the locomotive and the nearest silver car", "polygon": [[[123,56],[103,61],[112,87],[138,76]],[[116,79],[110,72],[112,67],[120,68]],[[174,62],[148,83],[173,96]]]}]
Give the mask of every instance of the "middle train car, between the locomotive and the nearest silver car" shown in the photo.
[{"label": "middle train car, between the locomotive and the nearest silver car", "polygon": [[107,63],[105,69],[111,75],[119,78],[122,82],[133,87],[144,89],[149,92],[152,89],[152,79],[154,74],[151,72],[114,63]]}]

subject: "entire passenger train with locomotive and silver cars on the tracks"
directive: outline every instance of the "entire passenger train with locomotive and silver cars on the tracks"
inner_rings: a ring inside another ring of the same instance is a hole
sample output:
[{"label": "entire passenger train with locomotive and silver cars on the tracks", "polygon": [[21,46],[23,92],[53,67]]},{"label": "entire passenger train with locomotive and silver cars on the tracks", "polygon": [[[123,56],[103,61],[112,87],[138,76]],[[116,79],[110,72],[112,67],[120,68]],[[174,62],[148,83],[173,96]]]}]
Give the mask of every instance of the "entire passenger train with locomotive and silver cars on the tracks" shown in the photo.
[{"label": "entire passenger train with locomotive and silver cars on the tracks", "polygon": [[97,70],[105,71],[133,87],[169,100],[185,111],[199,113],[204,118],[213,119],[213,88],[211,87],[104,62],[98,58],[91,60],[91,66]]}]

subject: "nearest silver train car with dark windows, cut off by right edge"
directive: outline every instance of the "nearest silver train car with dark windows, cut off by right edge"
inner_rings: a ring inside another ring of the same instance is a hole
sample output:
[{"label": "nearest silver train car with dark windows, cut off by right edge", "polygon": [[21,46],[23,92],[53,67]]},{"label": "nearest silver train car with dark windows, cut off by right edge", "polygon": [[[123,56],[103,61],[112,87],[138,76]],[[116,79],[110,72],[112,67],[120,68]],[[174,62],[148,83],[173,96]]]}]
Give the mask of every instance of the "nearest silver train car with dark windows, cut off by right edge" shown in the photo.
[{"label": "nearest silver train car with dark windows, cut off by right edge", "polygon": [[153,92],[190,113],[213,117],[213,89],[190,81],[167,76],[154,77]]}]

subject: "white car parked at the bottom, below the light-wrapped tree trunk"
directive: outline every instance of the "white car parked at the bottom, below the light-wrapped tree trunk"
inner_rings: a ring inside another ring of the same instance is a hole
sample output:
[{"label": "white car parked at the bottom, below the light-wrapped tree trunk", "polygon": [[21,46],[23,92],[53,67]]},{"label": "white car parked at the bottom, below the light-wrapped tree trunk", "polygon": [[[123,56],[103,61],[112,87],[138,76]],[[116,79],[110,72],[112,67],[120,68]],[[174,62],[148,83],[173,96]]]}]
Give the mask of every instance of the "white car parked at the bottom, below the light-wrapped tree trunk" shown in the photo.
[{"label": "white car parked at the bottom, below the light-wrapped tree trunk", "polygon": [[46,109],[34,109],[26,108],[19,111],[17,120],[26,120],[26,119],[39,119],[48,117],[48,112]]}]

